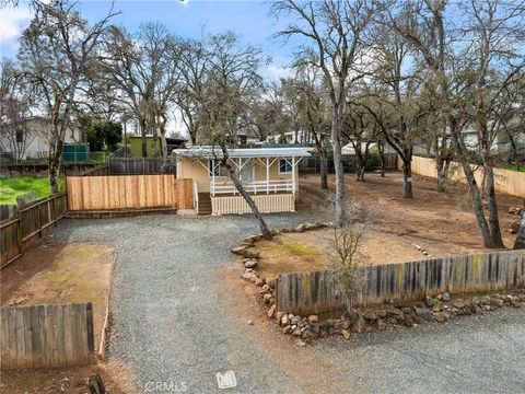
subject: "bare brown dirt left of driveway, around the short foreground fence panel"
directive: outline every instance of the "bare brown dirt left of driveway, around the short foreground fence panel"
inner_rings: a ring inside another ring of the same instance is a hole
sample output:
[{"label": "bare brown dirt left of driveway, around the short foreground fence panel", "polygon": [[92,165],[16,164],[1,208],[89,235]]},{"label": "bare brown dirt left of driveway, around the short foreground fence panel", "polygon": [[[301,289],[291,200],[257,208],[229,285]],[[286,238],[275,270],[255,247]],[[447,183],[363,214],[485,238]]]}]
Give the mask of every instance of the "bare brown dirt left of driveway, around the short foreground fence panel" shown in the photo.
[{"label": "bare brown dirt left of driveway, around the short foreground fence panel", "polygon": [[[7,306],[92,302],[95,344],[98,345],[114,259],[114,248],[104,245],[38,243],[1,270],[0,303]],[[88,393],[89,376],[100,373],[112,392],[124,393],[127,390],[120,389],[125,384],[118,378],[126,374],[122,371],[116,363],[1,371],[0,392]]]}]

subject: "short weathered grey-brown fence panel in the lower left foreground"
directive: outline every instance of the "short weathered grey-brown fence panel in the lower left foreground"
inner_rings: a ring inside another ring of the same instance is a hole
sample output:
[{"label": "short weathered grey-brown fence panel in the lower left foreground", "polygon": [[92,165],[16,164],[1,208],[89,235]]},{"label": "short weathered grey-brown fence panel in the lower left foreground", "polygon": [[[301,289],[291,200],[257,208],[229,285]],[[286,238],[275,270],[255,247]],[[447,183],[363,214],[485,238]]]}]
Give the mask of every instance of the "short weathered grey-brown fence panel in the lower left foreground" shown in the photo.
[{"label": "short weathered grey-brown fence panel in the lower left foreground", "polygon": [[91,303],[0,309],[1,369],[95,362]]}]

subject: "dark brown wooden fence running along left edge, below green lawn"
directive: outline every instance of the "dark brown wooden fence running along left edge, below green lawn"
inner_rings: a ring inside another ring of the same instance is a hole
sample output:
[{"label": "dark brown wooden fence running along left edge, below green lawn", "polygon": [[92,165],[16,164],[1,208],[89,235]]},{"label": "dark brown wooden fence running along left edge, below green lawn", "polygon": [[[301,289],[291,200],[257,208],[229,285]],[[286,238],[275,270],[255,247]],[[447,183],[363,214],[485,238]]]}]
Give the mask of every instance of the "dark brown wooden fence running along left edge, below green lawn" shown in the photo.
[{"label": "dark brown wooden fence running along left edge, below green lawn", "polygon": [[19,257],[32,239],[57,220],[67,210],[66,193],[36,200],[18,211],[14,218],[0,224],[0,268]]}]

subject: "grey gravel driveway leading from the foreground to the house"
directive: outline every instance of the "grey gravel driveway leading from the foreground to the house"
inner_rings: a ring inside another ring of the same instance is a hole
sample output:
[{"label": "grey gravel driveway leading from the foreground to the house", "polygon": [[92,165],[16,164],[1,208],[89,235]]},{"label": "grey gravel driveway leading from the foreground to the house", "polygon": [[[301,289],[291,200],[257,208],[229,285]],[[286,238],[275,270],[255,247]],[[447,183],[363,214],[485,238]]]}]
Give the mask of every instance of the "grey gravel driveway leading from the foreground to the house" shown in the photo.
[{"label": "grey gravel driveway leading from the foreground to the house", "polygon": [[[525,393],[524,310],[298,346],[262,310],[237,310],[244,283],[221,285],[224,270],[242,273],[230,248],[257,232],[252,216],[148,216],[62,220],[47,239],[116,247],[108,357],[130,366],[139,392]],[[226,370],[237,386],[222,391]]]}]

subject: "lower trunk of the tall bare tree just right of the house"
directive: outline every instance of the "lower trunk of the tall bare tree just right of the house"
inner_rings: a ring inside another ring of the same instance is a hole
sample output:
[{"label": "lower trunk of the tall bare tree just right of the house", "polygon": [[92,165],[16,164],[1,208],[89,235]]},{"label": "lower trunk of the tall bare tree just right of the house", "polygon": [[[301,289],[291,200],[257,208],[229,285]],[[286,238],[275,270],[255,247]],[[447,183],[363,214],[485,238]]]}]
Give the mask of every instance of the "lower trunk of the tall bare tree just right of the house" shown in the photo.
[{"label": "lower trunk of the tall bare tree just right of the house", "polygon": [[[331,141],[334,147],[334,169],[336,171],[336,223],[341,224],[345,219],[345,172],[341,161],[341,126],[342,126],[342,105],[334,106],[331,120]],[[341,114],[339,114],[339,111]]]}]

